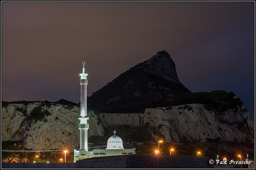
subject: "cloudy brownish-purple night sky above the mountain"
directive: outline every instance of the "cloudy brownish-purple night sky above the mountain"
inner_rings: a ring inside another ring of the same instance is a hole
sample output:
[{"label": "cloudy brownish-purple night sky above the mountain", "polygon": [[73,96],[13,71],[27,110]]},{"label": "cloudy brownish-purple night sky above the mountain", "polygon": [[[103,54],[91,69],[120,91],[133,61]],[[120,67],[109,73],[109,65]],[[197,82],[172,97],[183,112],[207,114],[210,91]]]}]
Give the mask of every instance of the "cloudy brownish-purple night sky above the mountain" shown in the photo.
[{"label": "cloudy brownish-purple night sky above the mountain", "polygon": [[191,92],[234,92],[254,117],[255,2],[2,2],[2,100],[80,102],[160,50]]}]

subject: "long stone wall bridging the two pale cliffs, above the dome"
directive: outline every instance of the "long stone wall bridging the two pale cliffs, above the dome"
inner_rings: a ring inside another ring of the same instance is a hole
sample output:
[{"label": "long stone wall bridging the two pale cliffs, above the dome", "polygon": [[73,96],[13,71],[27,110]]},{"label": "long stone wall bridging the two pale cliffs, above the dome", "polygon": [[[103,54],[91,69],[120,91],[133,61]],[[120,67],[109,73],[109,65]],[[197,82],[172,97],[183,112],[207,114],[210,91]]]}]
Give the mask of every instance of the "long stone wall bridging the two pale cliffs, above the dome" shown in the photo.
[{"label": "long stone wall bridging the two pale cliffs, above the dome", "polygon": [[99,113],[98,117],[103,127],[130,126],[140,127],[143,125],[144,113]]}]

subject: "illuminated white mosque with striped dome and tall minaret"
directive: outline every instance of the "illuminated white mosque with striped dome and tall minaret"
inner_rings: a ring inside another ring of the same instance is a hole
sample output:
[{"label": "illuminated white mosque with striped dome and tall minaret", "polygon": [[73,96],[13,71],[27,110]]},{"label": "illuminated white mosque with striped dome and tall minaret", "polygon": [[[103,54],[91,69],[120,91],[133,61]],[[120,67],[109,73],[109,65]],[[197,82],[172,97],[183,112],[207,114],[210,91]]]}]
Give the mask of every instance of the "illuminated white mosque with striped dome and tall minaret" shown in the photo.
[{"label": "illuminated white mosque with striped dome and tall minaret", "polygon": [[124,149],[123,141],[120,137],[116,135],[116,131],[114,131],[114,135],[108,139],[107,148],[106,149],[93,149],[92,151],[88,151],[88,129],[89,125],[87,120],[87,84],[88,80],[86,76],[88,74],[85,72],[84,64],[83,71],[79,74],[80,77],[80,124],[78,125],[78,129],[80,130],[80,150],[74,149],[74,162],[77,160],[91,158],[91,157],[99,157],[99,156],[114,156],[114,155],[124,155],[124,154],[136,154],[134,149]]}]

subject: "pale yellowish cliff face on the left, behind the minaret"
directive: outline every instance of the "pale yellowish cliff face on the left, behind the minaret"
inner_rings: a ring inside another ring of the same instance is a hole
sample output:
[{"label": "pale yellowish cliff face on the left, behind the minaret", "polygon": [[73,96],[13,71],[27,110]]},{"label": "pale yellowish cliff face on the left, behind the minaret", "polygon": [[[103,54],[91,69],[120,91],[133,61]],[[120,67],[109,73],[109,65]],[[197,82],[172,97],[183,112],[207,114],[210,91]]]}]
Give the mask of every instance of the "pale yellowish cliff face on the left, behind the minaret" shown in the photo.
[{"label": "pale yellowish cliff face on the left, behind the minaret", "polygon": [[[79,148],[80,108],[61,104],[8,104],[2,107],[2,141],[24,141],[28,149]],[[88,137],[102,136],[104,129],[88,111]]]}]

